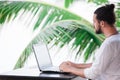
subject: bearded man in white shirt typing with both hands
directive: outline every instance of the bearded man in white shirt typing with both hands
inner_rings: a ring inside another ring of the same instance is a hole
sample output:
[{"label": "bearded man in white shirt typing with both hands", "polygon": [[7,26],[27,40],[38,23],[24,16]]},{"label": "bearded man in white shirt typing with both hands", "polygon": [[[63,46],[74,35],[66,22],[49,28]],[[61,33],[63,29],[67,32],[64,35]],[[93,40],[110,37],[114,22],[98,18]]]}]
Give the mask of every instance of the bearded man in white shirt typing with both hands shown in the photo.
[{"label": "bearded man in white shirt typing with both hands", "polygon": [[89,64],[63,62],[60,70],[92,80],[120,80],[120,34],[114,25],[114,7],[114,4],[108,4],[94,12],[95,32],[106,37],[95,54],[95,61]]}]

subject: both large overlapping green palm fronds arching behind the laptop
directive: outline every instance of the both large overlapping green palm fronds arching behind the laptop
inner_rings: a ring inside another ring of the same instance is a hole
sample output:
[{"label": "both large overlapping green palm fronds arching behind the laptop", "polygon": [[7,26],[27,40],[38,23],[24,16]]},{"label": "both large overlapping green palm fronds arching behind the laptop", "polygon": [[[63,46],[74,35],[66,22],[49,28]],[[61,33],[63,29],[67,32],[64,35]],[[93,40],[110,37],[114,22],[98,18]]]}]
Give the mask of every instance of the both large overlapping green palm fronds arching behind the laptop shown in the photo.
[{"label": "both large overlapping green palm fronds arching behind the laptop", "polygon": [[[19,15],[19,13],[21,14]],[[33,22],[33,38],[25,46],[15,68],[22,67],[32,52],[32,44],[43,41],[46,44],[51,42],[61,48],[72,43],[71,49],[77,50],[76,56],[84,53],[85,61],[101,45],[104,36],[97,36],[94,33],[90,22],[82,17],[73,14],[67,9],[62,9],[46,3],[26,2],[26,1],[1,1],[0,2],[0,23],[20,19],[30,12],[32,17],[28,23]],[[28,25],[31,26],[31,25]],[[54,46],[53,45],[53,46]]]}]

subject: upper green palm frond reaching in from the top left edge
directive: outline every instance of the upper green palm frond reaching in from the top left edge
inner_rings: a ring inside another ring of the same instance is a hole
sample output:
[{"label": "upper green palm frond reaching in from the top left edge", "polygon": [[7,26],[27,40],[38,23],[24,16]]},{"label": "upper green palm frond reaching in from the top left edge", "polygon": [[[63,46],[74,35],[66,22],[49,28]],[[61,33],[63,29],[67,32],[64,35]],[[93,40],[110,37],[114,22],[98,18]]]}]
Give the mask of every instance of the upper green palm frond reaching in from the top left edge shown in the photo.
[{"label": "upper green palm frond reaching in from the top left edge", "polygon": [[[34,25],[34,30],[39,26],[45,27],[49,24],[57,22],[59,20],[81,20],[87,22],[80,16],[77,16],[73,13],[69,14],[69,11],[55,7],[53,5],[48,5],[45,3],[35,3],[35,2],[22,2],[22,1],[13,1],[13,2],[0,2],[0,23],[4,23],[8,17],[8,21],[12,15],[15,17],[18,15],[18,12],[24,10],[24,12],[32,12],[34,15],[38,15],[38,19]],[[24,13],[23,12],[23,13]],[[89,22],[87,22],[89,24]],[[90,25],[90,24],[89,24]]]}]

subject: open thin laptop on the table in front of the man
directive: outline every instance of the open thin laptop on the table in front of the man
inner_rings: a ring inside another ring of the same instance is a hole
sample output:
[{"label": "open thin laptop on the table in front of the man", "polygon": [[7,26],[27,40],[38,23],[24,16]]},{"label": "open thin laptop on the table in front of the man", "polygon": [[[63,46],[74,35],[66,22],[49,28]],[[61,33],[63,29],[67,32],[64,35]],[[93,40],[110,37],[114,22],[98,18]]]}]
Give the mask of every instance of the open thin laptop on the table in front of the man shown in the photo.
[{"label": "open thin laptop on the table in front of the man", "polygon": [[32,48],[41,72],[69,74],[68,72],[60,71],[58,66],[53,66],[48,47],[45,43],[33,44]]}]

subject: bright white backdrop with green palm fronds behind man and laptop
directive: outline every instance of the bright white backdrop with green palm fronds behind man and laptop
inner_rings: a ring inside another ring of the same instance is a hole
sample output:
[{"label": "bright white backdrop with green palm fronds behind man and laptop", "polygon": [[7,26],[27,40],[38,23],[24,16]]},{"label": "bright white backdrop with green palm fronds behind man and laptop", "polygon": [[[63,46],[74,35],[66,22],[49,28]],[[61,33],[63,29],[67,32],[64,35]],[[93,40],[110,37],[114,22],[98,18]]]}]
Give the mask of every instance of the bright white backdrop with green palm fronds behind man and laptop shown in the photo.
[{"label": "bright white backdrop with green palm fronds behind man and laptop", "polygon": [[0,73],[37,66],[31,46],[39,41],[54,65],[92,62],[104,40],[94,33],[93,13],[108,3],[116,5],[119,30],[120,0],[1,0]]}]

